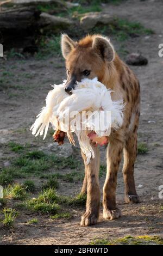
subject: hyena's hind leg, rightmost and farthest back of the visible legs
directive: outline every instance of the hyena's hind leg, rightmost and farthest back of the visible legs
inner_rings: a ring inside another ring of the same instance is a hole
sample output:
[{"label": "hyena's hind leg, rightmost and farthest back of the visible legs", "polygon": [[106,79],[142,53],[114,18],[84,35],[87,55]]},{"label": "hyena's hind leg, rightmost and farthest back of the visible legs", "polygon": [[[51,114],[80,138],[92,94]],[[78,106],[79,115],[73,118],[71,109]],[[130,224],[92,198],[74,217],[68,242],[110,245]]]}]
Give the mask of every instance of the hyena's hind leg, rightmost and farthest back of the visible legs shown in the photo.
[{"label": "hyena's hind leg, rightmost and farthest back of the visible legs", "polygon": [[[136,126],[135,126],[136,127]],[[140,203],[134,181],[134,163],[137,155],[137,131],[130,132],[124,147],[123,179],[126,203]]]}]

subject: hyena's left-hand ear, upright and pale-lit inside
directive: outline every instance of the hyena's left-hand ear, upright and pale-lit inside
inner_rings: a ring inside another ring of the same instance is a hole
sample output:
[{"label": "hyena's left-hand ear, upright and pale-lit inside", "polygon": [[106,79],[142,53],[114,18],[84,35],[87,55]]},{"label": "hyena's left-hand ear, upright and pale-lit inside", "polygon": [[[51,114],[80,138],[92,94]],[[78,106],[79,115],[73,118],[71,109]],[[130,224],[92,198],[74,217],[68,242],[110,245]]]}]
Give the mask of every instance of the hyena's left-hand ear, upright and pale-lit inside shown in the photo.
[{"label": "hyena's left-hand ear, upright and pale-lit inside", "polygon": [[61,51],[62,51],[62,56],[65,59],[74,47],[76,47],[76,42],[74,42],[67,34],[62,34],[61,35]]}]

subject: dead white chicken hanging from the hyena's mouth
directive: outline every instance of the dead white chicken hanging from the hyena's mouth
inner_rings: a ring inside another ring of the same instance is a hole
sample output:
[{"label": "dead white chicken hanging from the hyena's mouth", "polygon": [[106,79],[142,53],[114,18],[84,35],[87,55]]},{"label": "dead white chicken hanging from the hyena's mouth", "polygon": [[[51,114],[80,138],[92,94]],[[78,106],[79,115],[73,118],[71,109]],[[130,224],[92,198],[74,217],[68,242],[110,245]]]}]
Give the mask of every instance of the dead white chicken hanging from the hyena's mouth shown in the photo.
[{"label": "dead white chicken hanging from the hyena's mouth", "polygon": [[55,130],[54,141],[63,144],[66,133],[70,143],[74,144],[72,133],[76,133],[89,163],[94,157],[91,142],[106,144],[111,129],[121,127],[123,101],[112,101],[111,90],[106,89],[97,78],[85,78],[78,82],[71,95],[65,92],[64,86],[65,81],[48,93],[46,107],[42,108],[31,127],[32,134],[44,133],[45,139],[51,123]]}]

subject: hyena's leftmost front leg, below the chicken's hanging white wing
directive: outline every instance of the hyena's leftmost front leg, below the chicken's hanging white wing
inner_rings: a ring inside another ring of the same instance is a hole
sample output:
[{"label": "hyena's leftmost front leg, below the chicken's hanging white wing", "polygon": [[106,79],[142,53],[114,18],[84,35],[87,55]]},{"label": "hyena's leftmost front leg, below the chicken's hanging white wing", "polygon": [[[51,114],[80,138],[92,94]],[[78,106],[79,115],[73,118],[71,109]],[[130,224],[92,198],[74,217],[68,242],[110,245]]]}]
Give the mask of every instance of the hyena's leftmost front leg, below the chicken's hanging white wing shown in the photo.
[{"label": "hyena's leftmost front leg, below the chicken's hanging white wing", "polygon": [[[100,202],[100,190],[98,181],[99,172],[99,149],[92,145],[95,152],[95,158],[91,159],[90,163],[86,167],[87,177],[87,199],[86,199],[86,211],[82,216],[80,225],[87,226],[95,224],[99,216],[99,202]],[[82,154],[84,161],[86,157]]]}]

